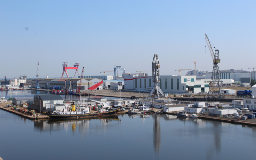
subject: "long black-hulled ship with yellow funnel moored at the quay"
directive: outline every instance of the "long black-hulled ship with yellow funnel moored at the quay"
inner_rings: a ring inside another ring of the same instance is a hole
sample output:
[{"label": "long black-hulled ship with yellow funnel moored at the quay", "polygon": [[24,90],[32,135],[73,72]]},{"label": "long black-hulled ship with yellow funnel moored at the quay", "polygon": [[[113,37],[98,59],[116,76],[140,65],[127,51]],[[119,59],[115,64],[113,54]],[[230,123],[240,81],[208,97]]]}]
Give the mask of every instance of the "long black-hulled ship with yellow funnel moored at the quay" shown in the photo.
[{"label": "long black-hulled ship with yellow funnel moored at the quay", "polygon": [[113,116],[116,115],[120,108],[113,108],[106,110],[101,108],[99,112],[89,113],[89,108],[84,106],[76,107],[74,102],[70,108],[64,108],[63,111],[56,111],[47,114],[50,118],[88,118],[88,117],[101,117],[101,116]]}]

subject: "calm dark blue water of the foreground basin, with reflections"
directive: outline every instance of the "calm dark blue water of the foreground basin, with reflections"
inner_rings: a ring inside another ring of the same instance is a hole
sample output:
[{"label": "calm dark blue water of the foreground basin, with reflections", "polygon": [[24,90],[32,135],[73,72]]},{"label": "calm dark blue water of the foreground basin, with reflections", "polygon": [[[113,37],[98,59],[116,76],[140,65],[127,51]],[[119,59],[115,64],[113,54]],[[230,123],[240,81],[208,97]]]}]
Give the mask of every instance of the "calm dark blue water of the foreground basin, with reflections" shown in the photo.
[{"label": "calm dark blue water of the foreground basin, with reflections", "polygon": [[0,156],[17,159],[254,159],[256,128],[172,115],[32,121],[0,110]]}]

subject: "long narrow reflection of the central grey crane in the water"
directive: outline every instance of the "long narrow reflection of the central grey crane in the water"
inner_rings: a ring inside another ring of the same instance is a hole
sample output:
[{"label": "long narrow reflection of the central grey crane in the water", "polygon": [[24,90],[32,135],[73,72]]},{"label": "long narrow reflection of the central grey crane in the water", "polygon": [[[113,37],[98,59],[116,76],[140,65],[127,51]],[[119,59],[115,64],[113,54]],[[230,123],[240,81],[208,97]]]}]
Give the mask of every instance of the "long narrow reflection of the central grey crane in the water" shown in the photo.
[{"label": "long narrow reflection of the central grey crane in the water", "polygon": [[153,114],[153,143],[156,155],[159,155],[161,147],[161,129],[159,124],[159,116]]}]

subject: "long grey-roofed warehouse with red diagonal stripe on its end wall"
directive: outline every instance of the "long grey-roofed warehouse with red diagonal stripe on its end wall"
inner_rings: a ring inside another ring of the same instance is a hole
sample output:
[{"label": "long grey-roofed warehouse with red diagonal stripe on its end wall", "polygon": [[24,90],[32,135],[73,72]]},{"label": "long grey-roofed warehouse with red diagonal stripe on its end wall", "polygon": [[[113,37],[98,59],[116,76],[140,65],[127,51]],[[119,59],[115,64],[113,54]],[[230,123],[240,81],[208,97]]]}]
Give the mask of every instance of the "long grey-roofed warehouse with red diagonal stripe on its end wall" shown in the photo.
[{"label": "long grey-roofed warehouse with red diagonal stripe on its end wall", "polygon": [[[39,87],[42,89],[49,89],[50,87],[60,87],[60,89],[67,89],[68,87],[77,89],[80,83],[80,78],[45,78],[39,79]],[[101,90],[103,80],[100,78],[82,78],[81,90]],[[36,80],[32,80],[31,87],[36,87]]]}]

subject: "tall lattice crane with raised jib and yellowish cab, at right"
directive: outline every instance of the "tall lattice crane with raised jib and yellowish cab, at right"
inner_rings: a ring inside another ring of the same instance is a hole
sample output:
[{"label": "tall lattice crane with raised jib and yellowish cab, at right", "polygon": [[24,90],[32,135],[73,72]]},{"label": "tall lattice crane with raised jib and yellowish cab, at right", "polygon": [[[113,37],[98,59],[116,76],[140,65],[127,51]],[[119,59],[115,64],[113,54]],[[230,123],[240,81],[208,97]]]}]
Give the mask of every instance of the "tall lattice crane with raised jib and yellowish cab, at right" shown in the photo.
[{"label": "tall lattice crane with raised jib and yellowish cab, at right", "polygon": [[219,50],[216,49],[215,52],[213,52],[208,36],[204,34],[204,37],[213,61],[212,77],[211,77],[211,82],[209,84],[208,96],[210,97],[210,95],[213,95],[213,97],[215,98],[215,96],[218,95],[218,98],[223,98],[224,96],[223,94],[221,94],[221,92],[223,93],[223,83],[220,77],[220,69],[219,69],[219,63],[220,63]]}]

